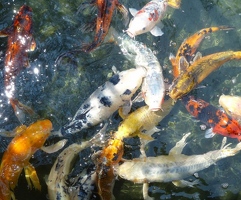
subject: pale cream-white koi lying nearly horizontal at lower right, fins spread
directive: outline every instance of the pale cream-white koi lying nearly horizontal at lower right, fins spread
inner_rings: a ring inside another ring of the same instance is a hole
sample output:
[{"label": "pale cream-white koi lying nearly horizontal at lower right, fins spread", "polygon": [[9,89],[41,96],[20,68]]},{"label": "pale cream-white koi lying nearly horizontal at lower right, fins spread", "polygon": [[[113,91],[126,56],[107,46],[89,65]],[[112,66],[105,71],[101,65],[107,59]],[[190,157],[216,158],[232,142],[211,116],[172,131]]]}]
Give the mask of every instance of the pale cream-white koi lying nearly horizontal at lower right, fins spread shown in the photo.
[{"label": "pale cream-white koi lying nearly horizontal at lower right, fins spread", "polygon": [[121,178],[134,183],[172,182],[176,186],[193,187],[198,184],[198,180],[190,182],[182,179],[206,169],[223,158],[234,156],[241,150],[241,143],[234,148],[228,148],[230,144],[225,145],[227,139],[225,137],[220,150],[187,156],[181,152],[186,146],[186,138],[189,135],[190,133],[185,134],[170,150],[169,155],[124,160],[123,164],[116,167],[116,173]]}]

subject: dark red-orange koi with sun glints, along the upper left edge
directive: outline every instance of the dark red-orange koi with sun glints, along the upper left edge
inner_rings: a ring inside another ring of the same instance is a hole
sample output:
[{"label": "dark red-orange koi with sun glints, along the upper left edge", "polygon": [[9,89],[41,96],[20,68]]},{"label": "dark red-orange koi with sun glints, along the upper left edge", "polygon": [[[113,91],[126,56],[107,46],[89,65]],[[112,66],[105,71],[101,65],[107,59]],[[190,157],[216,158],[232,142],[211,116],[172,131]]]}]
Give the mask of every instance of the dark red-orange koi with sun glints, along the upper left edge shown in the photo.
[{"label": "dark red-orange koi with sun glints, along the upper left edge", "polygon": [[20,113],[22,110],[33,113],[30,108],[14,98],[15,78],[24,67],[29,66],[28,52],[36,47],[32,33],[32,9],[26,5],[22,6],[14,17],[13,25],[0,31],[0,37],[8,36],[4,70],[5,94],[20,122],[23,121]]}]

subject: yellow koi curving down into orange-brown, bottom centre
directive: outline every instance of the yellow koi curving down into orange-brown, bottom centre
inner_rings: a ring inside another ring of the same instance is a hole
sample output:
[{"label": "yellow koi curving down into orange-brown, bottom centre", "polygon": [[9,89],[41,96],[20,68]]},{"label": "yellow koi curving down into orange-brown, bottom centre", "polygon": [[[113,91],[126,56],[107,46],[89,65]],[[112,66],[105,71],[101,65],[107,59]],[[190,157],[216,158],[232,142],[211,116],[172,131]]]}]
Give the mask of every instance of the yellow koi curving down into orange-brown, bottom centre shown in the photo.
[{"label": "yellow koi curving down into orange-brown, bottom centre", "polygon": [[151,134],[158,130],[154,129],[155,126],[171,111],[171,108],[171,99],[164,101],[163,111],[154,112],[148,109],[148,106],[143,106],[129,114],[119,125],[118,130],[113,133],[112,138],[96,159],[96,182],[102,199],[113,198],[114,168],[123,156],[124,138],[138,135],[152,140]]}]

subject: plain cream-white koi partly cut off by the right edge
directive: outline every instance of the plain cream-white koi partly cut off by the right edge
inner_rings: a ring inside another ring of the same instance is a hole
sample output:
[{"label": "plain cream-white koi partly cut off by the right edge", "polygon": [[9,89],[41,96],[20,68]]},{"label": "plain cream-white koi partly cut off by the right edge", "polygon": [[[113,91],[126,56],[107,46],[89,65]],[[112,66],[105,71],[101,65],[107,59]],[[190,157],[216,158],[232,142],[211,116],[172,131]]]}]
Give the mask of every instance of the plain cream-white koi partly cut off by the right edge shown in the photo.
[{"label": "plain cream-white koi partly cut off by the right edge", "polygon": [[241,121],[241,97],[231,95],[221,95],[219,104],[223,107],[226,113],[234,119]]}]

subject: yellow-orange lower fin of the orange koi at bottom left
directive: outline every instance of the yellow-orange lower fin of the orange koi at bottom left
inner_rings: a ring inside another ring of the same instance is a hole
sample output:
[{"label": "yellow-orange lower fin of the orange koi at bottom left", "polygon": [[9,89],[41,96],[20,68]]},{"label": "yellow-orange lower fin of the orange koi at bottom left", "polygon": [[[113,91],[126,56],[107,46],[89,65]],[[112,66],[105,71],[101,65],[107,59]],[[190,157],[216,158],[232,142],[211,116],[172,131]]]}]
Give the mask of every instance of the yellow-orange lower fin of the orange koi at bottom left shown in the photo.
[{"label": "yellow-orange lower fin of the orange koi at bottom left", "polygon": [[24,172],[29,188],[32,189],[33,185],[37,190],[40,191],[41,185],[35,168],[29,163],[29,165],[24,167]]}]

